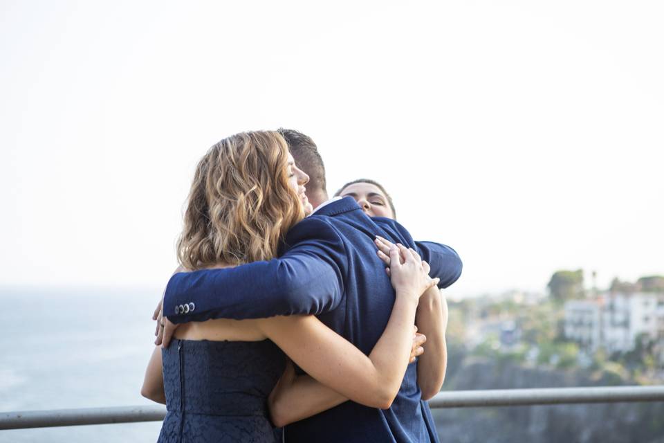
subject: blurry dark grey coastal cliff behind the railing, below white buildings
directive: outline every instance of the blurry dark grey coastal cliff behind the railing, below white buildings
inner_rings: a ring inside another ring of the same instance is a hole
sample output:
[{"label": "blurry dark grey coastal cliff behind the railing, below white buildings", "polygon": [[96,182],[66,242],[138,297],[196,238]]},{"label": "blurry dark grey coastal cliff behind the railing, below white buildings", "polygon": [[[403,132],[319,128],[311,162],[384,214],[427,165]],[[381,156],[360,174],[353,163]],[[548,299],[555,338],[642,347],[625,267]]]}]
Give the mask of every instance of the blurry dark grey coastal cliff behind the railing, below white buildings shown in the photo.
[{"label": "blurry dark grey coastal cliff behind the railing, below white buildings", "polygon": [[[583,370],[527,368],[455,353],[450,357],[443,390],[623,384],[608,374],[598,377]],[[432,413],[441,442],[664,442],[662,403],[449,408]]]}]

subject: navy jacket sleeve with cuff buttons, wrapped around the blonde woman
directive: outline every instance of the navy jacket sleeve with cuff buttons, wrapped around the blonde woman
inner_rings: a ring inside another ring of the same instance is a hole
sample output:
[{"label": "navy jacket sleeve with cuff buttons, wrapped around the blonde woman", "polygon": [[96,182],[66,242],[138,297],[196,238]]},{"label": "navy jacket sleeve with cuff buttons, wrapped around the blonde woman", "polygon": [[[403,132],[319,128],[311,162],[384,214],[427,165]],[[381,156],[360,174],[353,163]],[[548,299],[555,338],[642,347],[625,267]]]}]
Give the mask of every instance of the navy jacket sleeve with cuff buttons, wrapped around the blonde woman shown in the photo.
[{"label": "navy jacket sleeve with cuff buttons, wrapped around the blonde woman", "polygon": [[338,232],[323,217],[309,217],[291,229],[286,244],[291,248],[274,260],[173,275],[164,315],[186,323],[321,314],[337,307],[348,261]]}]

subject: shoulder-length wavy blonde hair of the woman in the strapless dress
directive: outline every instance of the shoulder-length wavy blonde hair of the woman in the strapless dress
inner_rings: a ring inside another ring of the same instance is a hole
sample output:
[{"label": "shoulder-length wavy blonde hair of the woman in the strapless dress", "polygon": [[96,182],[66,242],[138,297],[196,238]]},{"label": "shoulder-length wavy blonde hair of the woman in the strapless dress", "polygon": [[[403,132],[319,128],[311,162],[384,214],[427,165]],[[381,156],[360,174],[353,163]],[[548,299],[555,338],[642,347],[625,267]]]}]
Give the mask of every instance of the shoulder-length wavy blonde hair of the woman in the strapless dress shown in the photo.
[{"label": "shoulder-length wavy blonde hair of the woman in the strapless dress", "polygon": [[288,184],[284,138],[273,131],[235,134],[212,146],[196,167],[178,261],[194,270],[270,260],[303,217]]}]

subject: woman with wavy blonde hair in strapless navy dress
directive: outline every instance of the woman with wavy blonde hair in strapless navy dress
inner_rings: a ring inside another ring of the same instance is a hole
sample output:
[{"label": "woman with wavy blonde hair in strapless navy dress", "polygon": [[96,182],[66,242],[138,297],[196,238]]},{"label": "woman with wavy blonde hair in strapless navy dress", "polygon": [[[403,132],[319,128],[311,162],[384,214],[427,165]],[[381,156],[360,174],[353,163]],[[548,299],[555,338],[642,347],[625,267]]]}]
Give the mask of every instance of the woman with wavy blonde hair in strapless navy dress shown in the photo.
[{"label": "woman with wavy blonde hair in strapless navy dress", "polygon": [[[311,210],[307,181],[277,132],[220,141],[196,168],[178,260],[196,271],[275,257],[288,229]],[[396,302],[369,356],[315,316],[216,319],[176,329],[168,348],[154,350],[142,388],[167,406],[158,441],[276,441],[266,404],[286,355],[345,397],[389,407],[409,362],[418,298],[437,280],[406,248],[390,253]]]}]

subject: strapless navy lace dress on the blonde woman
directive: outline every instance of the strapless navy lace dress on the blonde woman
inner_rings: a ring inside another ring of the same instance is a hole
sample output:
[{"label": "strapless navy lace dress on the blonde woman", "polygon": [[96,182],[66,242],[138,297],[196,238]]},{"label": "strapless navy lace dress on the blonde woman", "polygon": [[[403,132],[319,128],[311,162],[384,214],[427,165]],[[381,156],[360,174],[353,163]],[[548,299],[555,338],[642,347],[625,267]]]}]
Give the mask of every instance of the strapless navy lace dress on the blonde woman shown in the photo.
[{"label": "strapless navy lace dress on the blonde woman", "polygon": [[277,442],[267,415],[286,365],[277,345],[174,340],[162,356],[167,413],[158,443]]}]

